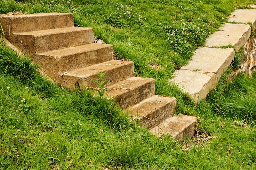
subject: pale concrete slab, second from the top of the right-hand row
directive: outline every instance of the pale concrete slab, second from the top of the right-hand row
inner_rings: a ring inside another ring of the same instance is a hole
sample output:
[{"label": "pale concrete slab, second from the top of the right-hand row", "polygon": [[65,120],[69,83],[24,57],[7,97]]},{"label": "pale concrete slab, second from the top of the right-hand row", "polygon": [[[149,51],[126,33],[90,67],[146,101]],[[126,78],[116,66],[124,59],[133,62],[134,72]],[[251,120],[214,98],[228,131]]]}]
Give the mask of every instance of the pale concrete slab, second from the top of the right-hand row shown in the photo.
[{"label": "pale concrete slab, second from the top of the right-hand row", "polygon": [[206,39],[207,47],[222,47],[232,45],[236,51],[243,47],[251,35],[251,27],[246,24],[224,24],[220,31],[210,35]]}]

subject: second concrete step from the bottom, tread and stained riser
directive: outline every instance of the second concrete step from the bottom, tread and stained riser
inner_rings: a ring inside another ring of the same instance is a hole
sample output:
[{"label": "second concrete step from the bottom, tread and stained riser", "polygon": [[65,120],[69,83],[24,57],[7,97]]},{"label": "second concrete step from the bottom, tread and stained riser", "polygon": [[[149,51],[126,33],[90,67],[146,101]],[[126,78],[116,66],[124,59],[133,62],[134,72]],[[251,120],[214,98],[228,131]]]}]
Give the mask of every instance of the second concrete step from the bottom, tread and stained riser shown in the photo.
[{"label": "second concrete step from the bottom, tread and stained riser", "polygon": [[153,128],[173,114],[177,100],[174,97],[153,95],[127,110],[137,116],[140,123],[147,128]]}]

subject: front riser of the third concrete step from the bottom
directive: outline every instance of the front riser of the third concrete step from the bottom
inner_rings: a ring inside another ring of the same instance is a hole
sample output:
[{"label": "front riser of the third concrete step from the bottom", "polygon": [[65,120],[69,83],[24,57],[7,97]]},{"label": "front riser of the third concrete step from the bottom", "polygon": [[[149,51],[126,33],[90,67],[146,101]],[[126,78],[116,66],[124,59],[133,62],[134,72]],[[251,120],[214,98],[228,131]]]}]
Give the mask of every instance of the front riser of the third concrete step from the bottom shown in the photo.
[{"label": "front riser of the third concrete step from the bottom", "polygon": [[[154,93],[155,81],[150,81],[142,86],[137,87],[134,90],[128,90],[126,93],[116,96],[116,102],[121,107],[127,108],[153,96]],[[108,97],[112,96],[108,95]]]}]

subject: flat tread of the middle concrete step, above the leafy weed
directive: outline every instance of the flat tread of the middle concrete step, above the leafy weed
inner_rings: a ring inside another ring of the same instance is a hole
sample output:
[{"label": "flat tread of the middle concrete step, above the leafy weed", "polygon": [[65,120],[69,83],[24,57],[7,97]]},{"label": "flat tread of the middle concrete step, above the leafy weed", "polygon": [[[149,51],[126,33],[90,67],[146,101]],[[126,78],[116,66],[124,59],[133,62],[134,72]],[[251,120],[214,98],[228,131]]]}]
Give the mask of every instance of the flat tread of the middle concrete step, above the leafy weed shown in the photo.
[{"label": "flat tread of the middle concrete step, above the leafy weed", "polygon": [[[111,65],[113,64],[113,65]],[[66,76],[74,76],[74,77],[90,77],[100,72],[109,71],[118,67],[123,67],[124,65],[133,64],[132,61],[121,61],[121,60],[110,60],[103,63],[93,64],[90,66],[78,68],[69,71]]]}]

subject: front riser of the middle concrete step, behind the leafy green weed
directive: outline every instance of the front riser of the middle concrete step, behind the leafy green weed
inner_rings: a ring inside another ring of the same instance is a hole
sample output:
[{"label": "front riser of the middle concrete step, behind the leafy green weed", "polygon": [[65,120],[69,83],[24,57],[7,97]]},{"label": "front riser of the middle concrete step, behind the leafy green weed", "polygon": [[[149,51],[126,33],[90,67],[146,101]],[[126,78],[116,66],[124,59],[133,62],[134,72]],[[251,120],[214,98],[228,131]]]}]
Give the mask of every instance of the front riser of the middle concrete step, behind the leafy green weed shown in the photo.
[{"label": "front riser of the middle concrete step, behind the leafy green weed", "polygon": [[[122,67],[118,67],[118,68],[107,71],[103,81],[106,81],[106,80],[109,80],[109,81],[104,87],[132,77],[133,66],[134,66],[133,63],[129,63]],[[98,76],[94,74],[86,78],[63,75],[62,77],[60,77],[59,81],[62,85],[65,85],[65,87],[67,88],[72,88],[74,86],[78,86],[80,88],[87,88],[87,87],[99,88],[99,85],[97,85],[93,81],[93,79],[99,80]]]}]

